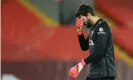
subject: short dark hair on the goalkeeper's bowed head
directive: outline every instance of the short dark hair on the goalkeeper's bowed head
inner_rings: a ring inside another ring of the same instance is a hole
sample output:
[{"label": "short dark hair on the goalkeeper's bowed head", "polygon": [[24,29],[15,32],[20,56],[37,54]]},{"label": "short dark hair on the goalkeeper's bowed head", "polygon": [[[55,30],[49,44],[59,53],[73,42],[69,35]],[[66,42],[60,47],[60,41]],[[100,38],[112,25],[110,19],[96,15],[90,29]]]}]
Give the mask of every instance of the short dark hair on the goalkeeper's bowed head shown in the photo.
[{"label": "short dark hair on the goalkeeper's bowed head", "polygon": [[82,4],[77,9],[75,16],[76,17],[80,17],[80,15],[87,16],[88,13],[90,13],[92,16],[95,16],[93,9],[89,5]]}]

